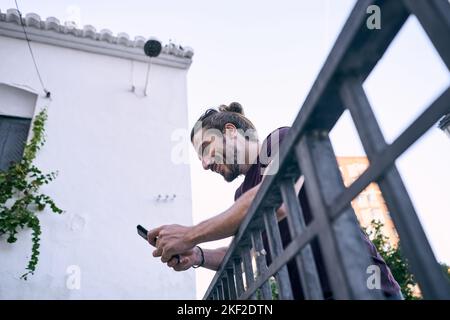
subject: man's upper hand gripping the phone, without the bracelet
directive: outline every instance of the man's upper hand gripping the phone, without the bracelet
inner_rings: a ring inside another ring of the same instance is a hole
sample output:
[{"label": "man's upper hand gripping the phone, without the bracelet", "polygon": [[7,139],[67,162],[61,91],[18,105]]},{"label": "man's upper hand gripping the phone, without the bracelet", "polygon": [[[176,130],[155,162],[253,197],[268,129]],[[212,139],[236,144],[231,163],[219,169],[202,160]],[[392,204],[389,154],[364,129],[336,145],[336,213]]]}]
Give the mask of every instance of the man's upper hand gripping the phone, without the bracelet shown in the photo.
[{"label": "man's upper hand gripping the phone, without the bracelet", "polygon": [[164,225],[147,233],[148,242],[156,247],[154,257],[161,257],[162,262],[168,262],[172,256],[182,254],[192,249],[195,243],[191,240],[192,227],[178,224]]}]

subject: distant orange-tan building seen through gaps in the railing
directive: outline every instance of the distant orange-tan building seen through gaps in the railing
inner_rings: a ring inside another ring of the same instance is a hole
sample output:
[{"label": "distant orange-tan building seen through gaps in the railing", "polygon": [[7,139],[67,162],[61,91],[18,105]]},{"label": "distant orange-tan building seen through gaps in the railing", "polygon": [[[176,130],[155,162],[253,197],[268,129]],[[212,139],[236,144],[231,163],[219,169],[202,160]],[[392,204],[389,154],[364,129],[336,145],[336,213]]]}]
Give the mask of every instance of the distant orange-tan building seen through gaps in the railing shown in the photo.
[{"label": "distant orange-tan building seen through gaps in the railing", "polygon": [[[345,186],[353,183],[369,166],[367,157],[337,157],[339,170]],[[352,201],[356,217],[363,228],[370,227],[372,220],[383,223],[383,234],[389,238],[389,243],[396,246],[398,234],[384,202],[383,195],[376,183],[371,183]]]}]

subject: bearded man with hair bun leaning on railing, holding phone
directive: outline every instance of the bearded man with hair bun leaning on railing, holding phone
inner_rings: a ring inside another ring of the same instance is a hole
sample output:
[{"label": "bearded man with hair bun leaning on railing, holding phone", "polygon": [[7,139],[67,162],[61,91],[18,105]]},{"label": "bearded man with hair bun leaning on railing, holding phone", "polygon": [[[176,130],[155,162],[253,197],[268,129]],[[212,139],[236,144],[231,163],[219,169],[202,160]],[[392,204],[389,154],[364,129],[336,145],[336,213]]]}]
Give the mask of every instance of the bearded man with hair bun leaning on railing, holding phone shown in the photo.
[{"label": "bearded man with hair bun leaning on railing, holding phone", "polygon": [[[198,244],[223,239],[237,232],[258,192],[265,173],[272,171],[271,159],[277,155],[279,144],[288,130],[288,127],[279,128],[260,144],[254,125],[244,116],[243,108],[239,103],[233,102],[229,106],[222,105],[219,110],[207,110],[191,131],[191,142],[203,168],[222,175],[227,182],[231,182],[243,174],[245,175],[244,182],[236,190],[234,204],[221,214],[192,227],[174,224],[160,226],[149,231],[148,240],[150,244],[156,246],[153,255],[161,257],[162,262],[167,263],[176,271],[200,266],[217,270],[228,248],[202,250]],[[305,223],[308,224],[312,217],[302,182],[301,177],[296,182],[295,189],[305,215]],[[281,205],[276,213],[283,246],[287,246],[291,239],[284,205]],[[383,292],[388,298],[401,298],[400,287],[389,268],[374,245],[362,232],[361,236],[368,246],[372,260],[380,267]],[[263,240],[268,253],[267,263],[270,264],[270,250],[264,233]],[[312,249],[324,297],[332,298],[317,243],[312,243]],[[294,298],[302,299],[303,294],[295,261],[289,262],[287,267]]]}]

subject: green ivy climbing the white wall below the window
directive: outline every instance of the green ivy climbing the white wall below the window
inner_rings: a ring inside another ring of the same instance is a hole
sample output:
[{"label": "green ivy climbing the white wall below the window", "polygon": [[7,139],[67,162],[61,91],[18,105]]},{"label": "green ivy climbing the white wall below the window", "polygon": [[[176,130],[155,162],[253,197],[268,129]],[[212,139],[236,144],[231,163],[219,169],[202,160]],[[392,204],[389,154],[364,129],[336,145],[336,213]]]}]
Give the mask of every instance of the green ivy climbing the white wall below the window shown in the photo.
[{"label": "green ivy climbing the white wall below the window", "polygon": [[54,213],[63,212],[49,196],[39,193],[39,188],[53,181],[58,173],[44,174],[33,165],[36,153],[45,143],[46,120],[47,109],[44,108],[33,121],[32,138],[25,146],[22,160],[12,163],[7,171],[0,172],[0,236],[6,235],[6,241],[14,243],[21,229],[32,230],[32,253],[27,272],[21,276],[24,280],[34,273],[39,258],[41,225],[37,212],[47,206]]}]

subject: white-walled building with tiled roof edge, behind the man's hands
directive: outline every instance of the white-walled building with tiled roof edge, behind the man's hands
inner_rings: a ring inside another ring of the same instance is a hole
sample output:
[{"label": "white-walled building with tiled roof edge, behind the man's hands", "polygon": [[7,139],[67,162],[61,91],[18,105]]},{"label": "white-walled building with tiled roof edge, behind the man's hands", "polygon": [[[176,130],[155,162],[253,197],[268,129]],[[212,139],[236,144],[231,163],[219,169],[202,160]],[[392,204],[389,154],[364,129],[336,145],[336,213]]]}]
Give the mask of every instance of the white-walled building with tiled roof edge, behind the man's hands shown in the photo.
[{"label": "white-walled building with tiled roof edge, behind the man's hands", "polygon": [[145,38],[27,14],[48,98],[20,21],[16,10],[0,13],[0,118],[27,123],[48,108],[35,163],[59,171],[41,191],[65,213],[39,214],[41,254],[28,281],[31,231],[14,244],[0,238],[0,299],[194,299],[194,272],[167,268],[136,233],[137,224],[192,224],[189,167],[171,161],[171,134],[188,127],[192,49],[163,46],[145,94]]}]

